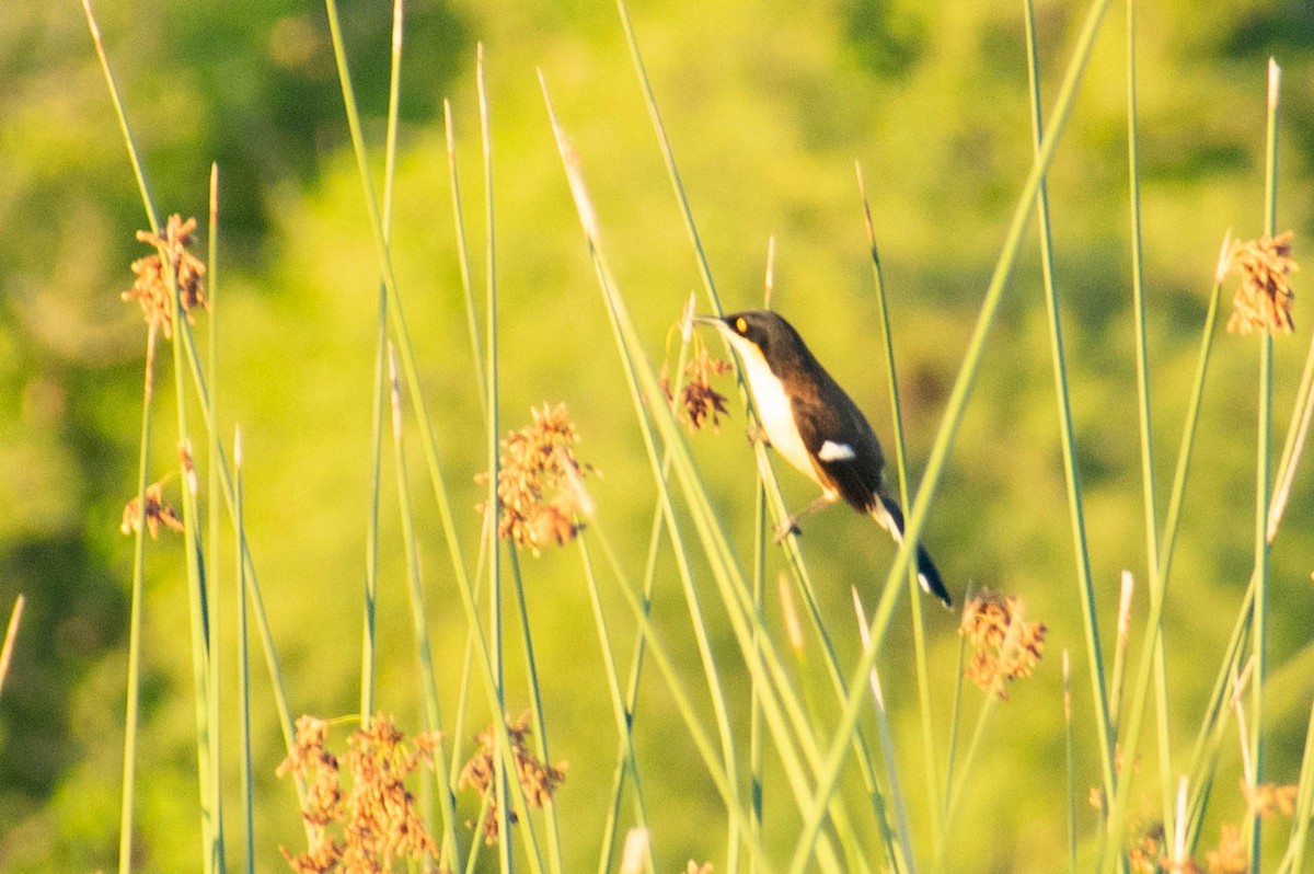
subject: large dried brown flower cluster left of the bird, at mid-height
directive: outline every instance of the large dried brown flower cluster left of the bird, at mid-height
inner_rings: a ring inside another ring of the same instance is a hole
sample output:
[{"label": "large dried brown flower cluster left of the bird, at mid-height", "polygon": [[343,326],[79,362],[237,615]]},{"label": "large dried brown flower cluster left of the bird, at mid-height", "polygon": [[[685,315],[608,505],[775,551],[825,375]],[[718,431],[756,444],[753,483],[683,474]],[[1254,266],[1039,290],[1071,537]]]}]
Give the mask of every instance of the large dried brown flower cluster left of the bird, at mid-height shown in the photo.
[{"label": "large dried brown flower cluster left of the bird, at mid-height", "polygon": [[532,425],[502,440],[498,536],[539,555],[553,540],[564,544],[579,532],[576,518],[586,511],[589,501],[583,477],[594,469],[574,456],[579,436],[565,403],[544,403],[531,413]]}]

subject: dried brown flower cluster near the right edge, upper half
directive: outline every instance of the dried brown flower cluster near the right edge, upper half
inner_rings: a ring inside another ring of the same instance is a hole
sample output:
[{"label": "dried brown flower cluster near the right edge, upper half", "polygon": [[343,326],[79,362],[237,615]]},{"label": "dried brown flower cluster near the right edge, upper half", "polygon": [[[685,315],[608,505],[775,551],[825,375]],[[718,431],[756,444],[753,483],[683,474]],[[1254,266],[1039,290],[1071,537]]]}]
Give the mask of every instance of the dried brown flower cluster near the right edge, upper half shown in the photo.
[{"label": "dried brown flower cluster near the right edge, upper half", "polygon": [[1267,330],[1271,334],[1289,334],[1292,321],[1290,275],[1296,272],[1292,260],[1292,231],[1277,237],[1235,241],[1227,252],[1226,269],[1240,273],[1240,288],[1233,298],[1233,314],[1227,330],[1250,334]]}]

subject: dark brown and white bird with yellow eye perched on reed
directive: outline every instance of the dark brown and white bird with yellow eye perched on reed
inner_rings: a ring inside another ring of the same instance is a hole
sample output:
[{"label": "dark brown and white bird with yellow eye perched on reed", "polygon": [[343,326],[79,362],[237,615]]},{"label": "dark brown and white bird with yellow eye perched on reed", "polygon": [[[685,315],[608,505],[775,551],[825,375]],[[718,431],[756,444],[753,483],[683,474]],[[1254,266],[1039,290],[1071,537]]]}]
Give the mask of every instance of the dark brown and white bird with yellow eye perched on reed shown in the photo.
[{"label": "dark brown and white bird with yellow eye perched on reed", "polygon": [[[821,486],[821,497],[781,524],[777,540],[796,532],[802,518],[844,498],[901,545],[903,510],[886,484],[876,432],[794,326],[770,310],[694,321],[715,327],[738,354],[766,443]],[[946,607],[953,606],[936,563],[920,543],[917,581]]]}]

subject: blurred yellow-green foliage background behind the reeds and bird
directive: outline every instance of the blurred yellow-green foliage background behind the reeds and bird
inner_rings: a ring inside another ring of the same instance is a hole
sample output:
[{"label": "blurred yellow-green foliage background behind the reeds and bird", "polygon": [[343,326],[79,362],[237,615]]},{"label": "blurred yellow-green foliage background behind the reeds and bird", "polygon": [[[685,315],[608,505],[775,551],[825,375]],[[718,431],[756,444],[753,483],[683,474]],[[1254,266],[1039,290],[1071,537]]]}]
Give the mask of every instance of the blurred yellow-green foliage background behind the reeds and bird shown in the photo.
[{"label": "blurred yellow-green foliage background behind the reeds and bird", "polygon": [[[809,339],[878,432],[888,435],[853,171],[855,160],[862,163],[892,301],[916,482],[1030,164],[1021,4],[636,0],[631,11],[727,306],[758,304],[767,238],[775,235],[777,309]],[[197,216],[204,225],[210,162],[219,164],[222,432],[227,439],[235,423],[243,428],[248,530],[293,708],[352,712],[377,265],[323,8],[286,0],[105,0],[96,12],[159,208]],[[1068,0],[1038,7],[1047,99],[1084,12]],[[380,143],[389,4],[344,3],[343,14],[367,135]],[[1139,33],[1142,208],[1163,506],[1219,242],[1227,229],[1239,237],[1263,230],[1269,55],[1285,72],[1279,230],[1294,229],[1296,258],[1306,258],[1314,230],[1314,5],[1143,4]],[[1120,7],[1105,22],[1050,176],[1093,570],[1110,645],[1118,573],[1130,568],[1144,577],[1129,319],[1125,39]],[[474,543],[481,488],[473,477],[486,463],[442,101],[452,101],[480,284],[485,216],[476,42],[485,45],[491,103],[502,431],[526,423],[532,405],[569,405],[583,439],[579,455],[604,473],[591,481],[599,513],[637,577],[652,482],[536,68],[581,154],[619,287],[650,338],[654,361],[700,283],[615,8],[606,1],[407,4],[394,259],[448,482],[456,505],[469,507],[461,534]],[[0,514],[0,609],[7,615],[18,593],[28,597],[0,699],[0,869],[108,869],[117,853],[131,577],[131,540],[118,534],[118,522],[135,489],[145,347],[137,306],[122,304],[118,293],[131,284],[129,264],[146,254],[133,239],[146,221],[79,4],[8,4],[0,13],[0,501],[7,507]],[[374,158],[381,166],[381,154]],[[1298,292],[1300,281],[1298,275]],[[1277,342],[1281,427],[1310,311],[1298,298],[1298,333]],[[1250,573],[1255,361],[1254,338],[1221,339],[1205,396],[1167,618],[1173,740],[1183,757],[1173,771],[1185,766]],[[171,405],[172,390],[160,392],[151,478],[176,465]],[[748,555],[753,461],[742,425],[732,401],[721,434],[691,442]],[[411,467],[423,476],[418,453]],[[792,472],[782,478],[792,503],[811,499],[809,484]],[[1307,482],[1298,477],[1273,551],[1277,674],[1269,771],[1286,782],[1296,777],[1314,686],[1306,648],[1314,610]],[[176,499],[176,480],[170,489]],[[403,566],[388,497],[381,704],[414,729]],[[426,503],[419,514],[427,524],[424,566],[451,712],[464,620],[435,513]],[[1003,777],[982,781],[962,811],[955,852],[966,867],[959,870],[1055,870],[1066,846],[1063,787],[1055,779],[1064,648],[1074,653],[1085,783],[1097,782],[1097,756],[1034,242],[991,338],[925,540],[955,598],[968,585],[1001,587],[1050,628],[1038,676],[1018,685],[996,716],[982,773]],[[851,664],[858,644],[846,619],[848,585],[874,603],[892,547],[869,520],[832,510],[808,523],[804,548],[836,618],[841,658]],[[227,574],[221,584],[231,587],[229,555],[219,565]],[[138,853],[141,870],[192,870],[200,858],[194,716],[176,541],[151,549],[148,570]],[[569,549],[549,551],[526,560],[524,570],[552,753],[569,761],[558,794],[561,816],[572,824],[568,867],[581,870],[595,863],[614,729],[600,672],[581,670],[597,661],[597,643],[578,559]],[[671,568],[661,570],[657,616],[694,672],[692,644],[679,631],[685,607]],[[1142,589],[1142,618],[1146,603]],[[618,645],[628,652],[632,622],[619,599],[611,607],[624,630]],[[773,622],[778,612],[769,607]],[[714,626],[724,628],[716,616],[714,609]],[[903,753],[920,761],[907,623],[895,628],[882,670]],[[717,645],[733,666],[733,640],[723,633]],[[936,707],[946,722],[958,649],[953,618],[933,611],[930,635]],[[1284,665],[1294,666],[1282,673]],[[298,840],[294,795],[272,775],[281,739],[260,698],[263,668],[256,677],[258,828],[264,870],[277,870],[276,844]],[[745,714],[744,686],[732,685],[731,693]],[[512,710],[523,706],[519,701]],[[658,858],[669,870],[690,857],[723,858],[723,832],[706,827],[720,803],[687,754],[656,674],[645,685],[640,727],[646,789],[650,799],[661,799]],[[1225,748],[1235,770],[1235,743]],[[1143,749],[1143,799],[1134,799],[1133,810],[1150,815],[1156,771],[1150,745]],[[1215,819],[1239,816],[1233,786],[1223,781],[1215,791]],[[925,802],[921,787],[911,793],[916,829],[925,825]],[[1080,810],[1079,824],[1089,835],[1093,811]],[[787,836],[781,840],[787,845]],[[1213,828],[1204,840],[1212,844]]]}]

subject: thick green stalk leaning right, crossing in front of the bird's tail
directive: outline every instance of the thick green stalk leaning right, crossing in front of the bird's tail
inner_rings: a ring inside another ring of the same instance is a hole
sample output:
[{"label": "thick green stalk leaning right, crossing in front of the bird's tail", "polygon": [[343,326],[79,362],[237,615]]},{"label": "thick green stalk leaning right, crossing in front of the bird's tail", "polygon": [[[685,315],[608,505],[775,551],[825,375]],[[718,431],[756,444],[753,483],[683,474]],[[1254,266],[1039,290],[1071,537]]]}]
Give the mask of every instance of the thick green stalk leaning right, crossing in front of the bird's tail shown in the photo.
[{"label": "thick green stalk leaning right, crossing in front of the bird's tail", "polygon": [[830,748],[827,752],[823,770],[817,779],[817,791],[813,796],[811,810],[807,812],[804,827],[796,844],[794,861],[790,865],[790,870],[794,874],[800,874],[807,866],[807,860],[812,850],[812,842],[816,840],[821,828],[825,806],[838,783],[840,771],[845,758],[845,748],[851,737],[851,732],[854,731],[858,720],[858,714],[862,708],[862,686],[866,682],[867,673],[875,664],[876,655],[879,653],[882,644],[884,643],[884,635],[897,599],[899,593],[895,584],[903,577],[903,574],[907,573],[908,563],[912,557],[912,553],[908,549],[908,543],[917,541],[921,535],[922,526],[925,524],[930,499],[934,497],[936,489],[940,485],[940,477],[943,473],[949,449],[953,444],[954,435],[958,431],[958,426],[962,422],[963,413],[967,409],[967,400],[971,397],[972,385],[980,367],[980,359],[984,354],[986,339],[989,335],[995,317],[999,313],[999,305],[1003,300],[1004,288],[1012,275],[1013,264],[1021,247],[1022,233],[1026,229],[1028,216],[1030,214],[1031,205],[1035,201],[1041,179],[1054,156],[1058,139],[1062,135],[1063,127],[1067,125],[1077,85],[1081,83],[1085,71],[1085,62],[1091,55],[1091,50],[1095,45],[1095,37],[1100,30],[1100,22],[1104,18],[1104,13],[1108,11],[1108,7],[1109,0],[1096,0],[1087,13],[1081,34],[1077,39],[1076,50],[1074,51],[1072,60],[1059,89],[1054,110],[1054,122],[1045,134],[1035,163],[1028,175],[1018,202],[1014,206],[1000,259],[996,264],[995,273],[991,277],[989,287],[986,292],[986,300],[982,304],[980,315],[978,317],[976,327],[972,331],[971,340],[968,342],[967,351],[963,356],[963,365],[959,369],[957,381],[954,382],[954,389],[949,398],[949,406],[945,411],[940,431],[936,435],[930,457],[926,461],[926,471],[922,474],[921,489],[917,492],[917,499],[913,502],[912,511],[907,519],[907,527],[904,531],[905,543],[895,557],[895,564],[890,570],[880,603],[876,607],[875,618],[871,623],[871,644],[863,648],[862,657],[854,669],[853,678],[848,686],[849,695],[845,702],[844,712],[840,716],[838,724],[834,727],[834,737],[830,741]]}]

